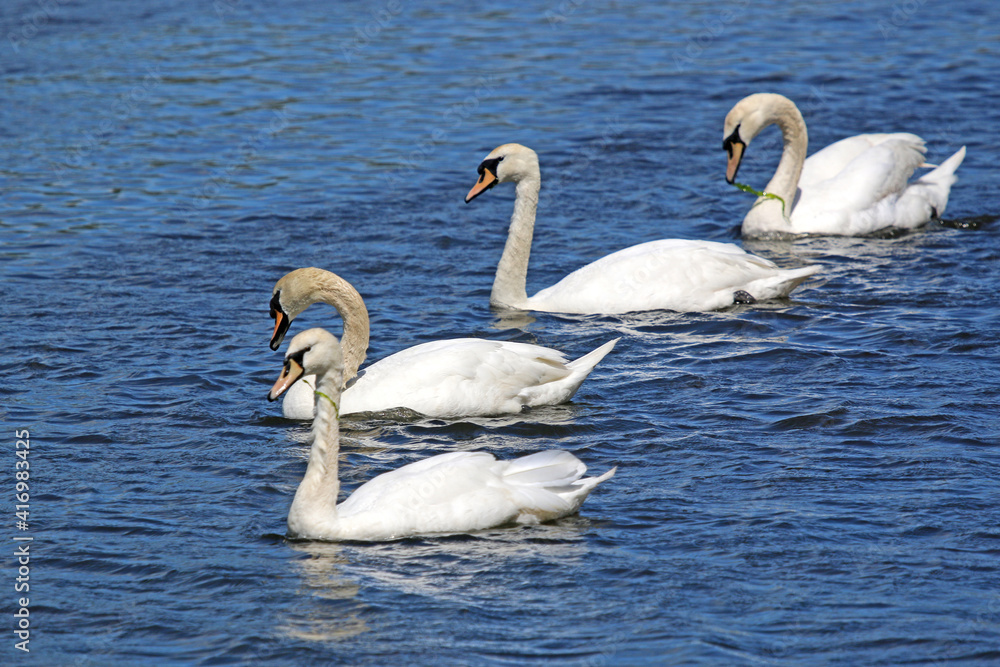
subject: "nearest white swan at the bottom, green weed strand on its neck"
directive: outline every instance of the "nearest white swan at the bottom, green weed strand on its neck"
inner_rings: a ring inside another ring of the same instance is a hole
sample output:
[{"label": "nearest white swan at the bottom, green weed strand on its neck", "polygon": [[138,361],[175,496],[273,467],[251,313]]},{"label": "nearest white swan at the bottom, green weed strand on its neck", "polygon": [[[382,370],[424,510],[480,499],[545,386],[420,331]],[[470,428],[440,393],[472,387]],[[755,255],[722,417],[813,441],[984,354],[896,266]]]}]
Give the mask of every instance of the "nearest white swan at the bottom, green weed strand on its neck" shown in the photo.
[{"label": "nearest white swan at the bottom, green weed strand on its neck", "polygon": [[379,475],[338,505],[337,405],[344,359],[337,339],[323,329],[292,339],[268,400],[306,373],[316,375],[319,404],[306,474],[288,511],[291,537],[393,540],[552,521],[576,512],[594,487],[615,474],[612,468],[581,479],[587,467],[560,450],[513,461],[497,461],[486,452],[454,452]]}]

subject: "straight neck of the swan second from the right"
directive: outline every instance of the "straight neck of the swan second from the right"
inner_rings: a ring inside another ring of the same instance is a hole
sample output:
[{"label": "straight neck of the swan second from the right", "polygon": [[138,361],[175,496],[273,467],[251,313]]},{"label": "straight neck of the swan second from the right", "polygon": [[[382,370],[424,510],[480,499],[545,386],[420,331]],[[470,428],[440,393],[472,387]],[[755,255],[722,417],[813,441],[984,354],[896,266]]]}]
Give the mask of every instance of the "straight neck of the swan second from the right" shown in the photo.
[{"label": "straight neck of the swan second from the right", "polygon": [[507,243],[493,279],[490,303],[494,306],[519,308],[528,301],[525,285],[528,280],[528,259],[535,233],[535,213],[538,210],[540,174],[533,174],[517,183],[514,213],[510,217]]}]

